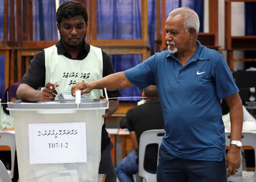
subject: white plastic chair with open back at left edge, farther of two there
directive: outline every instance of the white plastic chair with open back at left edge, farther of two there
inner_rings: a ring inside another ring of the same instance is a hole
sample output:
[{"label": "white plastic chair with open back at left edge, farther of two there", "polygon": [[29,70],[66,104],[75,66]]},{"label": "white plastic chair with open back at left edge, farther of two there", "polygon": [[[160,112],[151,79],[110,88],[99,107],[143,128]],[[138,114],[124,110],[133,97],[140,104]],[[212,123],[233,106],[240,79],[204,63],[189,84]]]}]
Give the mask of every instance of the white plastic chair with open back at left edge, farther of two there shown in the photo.
[{"label": "white plastic chair with open back at left edge, farther of two there", "polygon": [[14,163],[15,163],[15,135],[9,132],[0,132],[0,145],[10,146],[11,148],[11,171],[7,170],[11,179],[14,176]]}]

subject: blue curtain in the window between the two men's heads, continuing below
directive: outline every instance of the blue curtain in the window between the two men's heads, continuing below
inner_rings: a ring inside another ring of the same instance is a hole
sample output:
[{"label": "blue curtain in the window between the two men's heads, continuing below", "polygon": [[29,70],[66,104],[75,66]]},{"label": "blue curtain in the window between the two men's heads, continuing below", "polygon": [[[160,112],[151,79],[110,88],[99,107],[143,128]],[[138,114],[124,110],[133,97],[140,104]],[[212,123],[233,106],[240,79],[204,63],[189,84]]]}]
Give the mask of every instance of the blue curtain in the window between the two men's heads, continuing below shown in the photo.
[{"label": "blue curtain in the window between the two men's heads, continuing below", "polygon": [[[97,39],[142,39],[141,37],[141,1],[97,0]],[[111,55],[110,58],[115,72],[127,70],[142,60],[141,55]],[[123,97],[141,96],[141,91],[135,86],[120,91]]]}]

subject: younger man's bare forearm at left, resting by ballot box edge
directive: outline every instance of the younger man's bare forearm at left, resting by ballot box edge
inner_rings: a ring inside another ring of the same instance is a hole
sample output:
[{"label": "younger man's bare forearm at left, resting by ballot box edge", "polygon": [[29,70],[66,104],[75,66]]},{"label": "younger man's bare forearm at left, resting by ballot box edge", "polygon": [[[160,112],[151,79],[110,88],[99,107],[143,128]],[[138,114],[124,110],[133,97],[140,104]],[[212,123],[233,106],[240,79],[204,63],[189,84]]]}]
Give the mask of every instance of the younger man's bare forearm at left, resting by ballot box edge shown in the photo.
[{"label": "younger man's bare forearm at left, resting by ballot box edge", "polygon": [[16,97],[18,99],[27,101],[38,101],[39,94],[40,91],[35,90],[34,88],[28,86],[28,84],[25,83],[20,84],[16,91]]}]

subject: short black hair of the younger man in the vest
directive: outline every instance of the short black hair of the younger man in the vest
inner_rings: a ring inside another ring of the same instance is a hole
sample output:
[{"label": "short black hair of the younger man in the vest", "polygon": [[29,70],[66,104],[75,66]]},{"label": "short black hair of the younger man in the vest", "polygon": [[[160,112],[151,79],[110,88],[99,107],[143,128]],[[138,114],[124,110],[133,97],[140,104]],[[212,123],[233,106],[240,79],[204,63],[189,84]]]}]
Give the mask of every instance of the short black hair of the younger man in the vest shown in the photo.
[{"label": "short black hair of the younger man in the vest", "polygon": [[71,18],[74,16],[81,15],[84,18],[85,23],[88,22],[88,14],[86,8],[80,2],[74,1],[66,1],[62,3],[57,12],[56,12],[56,20],[57,23],[60,24],[63,18]]}]

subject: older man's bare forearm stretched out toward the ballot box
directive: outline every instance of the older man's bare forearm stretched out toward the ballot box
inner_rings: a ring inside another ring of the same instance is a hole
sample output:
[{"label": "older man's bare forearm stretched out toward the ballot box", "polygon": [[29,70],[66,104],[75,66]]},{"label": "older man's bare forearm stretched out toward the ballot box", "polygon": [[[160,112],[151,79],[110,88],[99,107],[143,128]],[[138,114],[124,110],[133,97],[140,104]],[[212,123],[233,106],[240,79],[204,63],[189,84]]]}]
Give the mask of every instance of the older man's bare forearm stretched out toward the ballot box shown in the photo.
[{"label": "older man's bare forearm stretched out toward the ballot box", "polygon": [[125,77],[123,71],[114,73],[112,75],[108,75],[107,77],[98,79],[97,81],[93,81],[90,83],[92,84],[93,89],[106,88],[109,91],[133,86],[133,84],[130,83],[128,79]]}]

